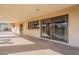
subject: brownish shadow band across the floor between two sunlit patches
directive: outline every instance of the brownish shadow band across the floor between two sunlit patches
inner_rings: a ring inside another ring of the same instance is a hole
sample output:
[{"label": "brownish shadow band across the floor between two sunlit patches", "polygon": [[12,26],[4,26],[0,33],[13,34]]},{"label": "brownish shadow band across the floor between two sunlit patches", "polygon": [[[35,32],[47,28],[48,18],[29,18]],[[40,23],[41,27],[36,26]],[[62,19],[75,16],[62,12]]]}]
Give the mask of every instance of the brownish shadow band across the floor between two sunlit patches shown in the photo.
[{"label": "brownish shadow band across the floor between two sunlit patches", "polygon": [[37,44],[29,44],[29,45],[13,45],[13,46],[5,46],[0,47],[0,54],[10,54],[10,53],[17,53],[17,52],[27,52],[27,51],[35,51],[35,50],[42,50],[46,49],[44,46],[39,46]]}]

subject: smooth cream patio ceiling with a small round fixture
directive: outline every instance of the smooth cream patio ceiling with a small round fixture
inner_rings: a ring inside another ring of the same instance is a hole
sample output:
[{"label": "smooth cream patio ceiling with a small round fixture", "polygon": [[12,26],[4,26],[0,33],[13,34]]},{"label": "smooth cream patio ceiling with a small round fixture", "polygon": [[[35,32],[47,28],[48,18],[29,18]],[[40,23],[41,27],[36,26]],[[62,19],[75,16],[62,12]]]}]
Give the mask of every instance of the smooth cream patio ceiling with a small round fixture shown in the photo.
[{"label": "smooth cream patio ceiling with a small round fixture", "polygon": [[[0,22],[22,21],[24,18],[33,18],[49,12],[61,10],[73,5],[69,4],[1,4]],[[36,11],[39,9],[39,11]]]}]

